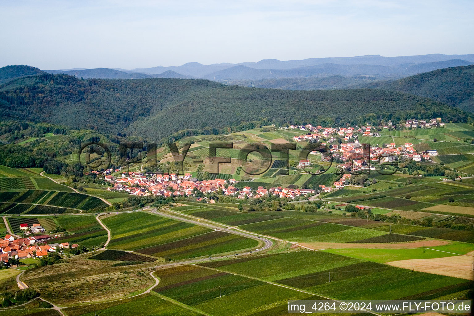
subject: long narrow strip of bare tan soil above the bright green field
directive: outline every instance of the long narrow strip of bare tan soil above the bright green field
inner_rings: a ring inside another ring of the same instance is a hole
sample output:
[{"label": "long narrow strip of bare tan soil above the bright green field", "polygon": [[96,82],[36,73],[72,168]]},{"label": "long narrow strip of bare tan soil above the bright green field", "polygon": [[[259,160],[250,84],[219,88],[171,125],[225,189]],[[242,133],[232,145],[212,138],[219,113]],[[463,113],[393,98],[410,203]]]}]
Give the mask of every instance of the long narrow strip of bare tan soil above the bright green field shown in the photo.
[{"label": "long narrow strip of bare tan soil above the bright green field", "polygon": [[444,240],[424,240],[415,243],[398,243],[398,244],[344,244],[344,243],[298,243],[311,249],[333,249],[333,248],[369,248],[369,249],[406,249],[435,247],[451,244]]}]

